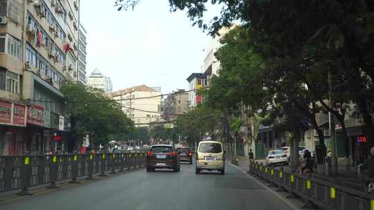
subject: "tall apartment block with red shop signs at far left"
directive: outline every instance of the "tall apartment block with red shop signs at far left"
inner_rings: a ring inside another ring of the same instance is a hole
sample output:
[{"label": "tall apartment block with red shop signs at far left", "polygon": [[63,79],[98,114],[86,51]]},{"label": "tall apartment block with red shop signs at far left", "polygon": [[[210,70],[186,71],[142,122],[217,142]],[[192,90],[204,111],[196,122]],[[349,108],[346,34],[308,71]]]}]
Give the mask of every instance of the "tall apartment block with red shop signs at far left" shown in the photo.
[{"label": "tall apartment block with red shop signs at far left", "polygon": [[0,0],[0,155],[69,149],[62,82],[77,78],[79,3]]}]

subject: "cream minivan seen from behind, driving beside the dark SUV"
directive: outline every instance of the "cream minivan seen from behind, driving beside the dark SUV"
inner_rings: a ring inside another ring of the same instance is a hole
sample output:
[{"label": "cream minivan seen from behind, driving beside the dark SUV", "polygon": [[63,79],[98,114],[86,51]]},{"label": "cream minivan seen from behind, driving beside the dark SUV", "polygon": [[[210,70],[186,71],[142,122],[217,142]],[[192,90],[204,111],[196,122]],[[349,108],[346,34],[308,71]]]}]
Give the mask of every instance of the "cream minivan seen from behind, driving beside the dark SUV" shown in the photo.
[{"label": "cream minivan seen from behind, driving beside the dark SUV", "polygon": [[217,170],[224,175],[224,150],[221,142],[199,142],[196,154],[196,173],[202,170]]}]

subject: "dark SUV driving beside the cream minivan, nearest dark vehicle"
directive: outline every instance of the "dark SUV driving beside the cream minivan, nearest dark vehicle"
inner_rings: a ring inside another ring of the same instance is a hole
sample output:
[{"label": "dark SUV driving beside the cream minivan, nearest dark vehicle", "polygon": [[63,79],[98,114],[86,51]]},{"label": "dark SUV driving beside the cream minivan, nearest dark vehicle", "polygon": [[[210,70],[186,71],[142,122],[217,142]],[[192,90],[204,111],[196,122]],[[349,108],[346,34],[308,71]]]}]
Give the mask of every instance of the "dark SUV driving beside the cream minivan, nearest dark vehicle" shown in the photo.
[{"label": "dark SUV driving beside the cream minivan, nearest dark vehicle", "polygon": [[172,169],[180,171],[179,155],[174,147],[167,144],[153,145],[147,152],[147,171],[154,169]]}]

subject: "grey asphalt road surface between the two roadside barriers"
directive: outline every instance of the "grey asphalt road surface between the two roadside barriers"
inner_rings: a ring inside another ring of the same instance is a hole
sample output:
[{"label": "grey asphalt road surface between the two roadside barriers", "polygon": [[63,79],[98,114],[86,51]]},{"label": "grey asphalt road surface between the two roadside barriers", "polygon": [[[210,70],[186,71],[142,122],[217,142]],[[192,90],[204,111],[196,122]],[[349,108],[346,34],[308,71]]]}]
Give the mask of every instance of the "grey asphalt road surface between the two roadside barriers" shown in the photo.
[{"label": "grey asphalt road surface between the two roadside barriers", "polygon": [[196,175],[193,165],[181,171],[130,171],[75,187],[5,202],[0,209],[265,210],[292,209],[274,193],[226,164],[226,175]]}]

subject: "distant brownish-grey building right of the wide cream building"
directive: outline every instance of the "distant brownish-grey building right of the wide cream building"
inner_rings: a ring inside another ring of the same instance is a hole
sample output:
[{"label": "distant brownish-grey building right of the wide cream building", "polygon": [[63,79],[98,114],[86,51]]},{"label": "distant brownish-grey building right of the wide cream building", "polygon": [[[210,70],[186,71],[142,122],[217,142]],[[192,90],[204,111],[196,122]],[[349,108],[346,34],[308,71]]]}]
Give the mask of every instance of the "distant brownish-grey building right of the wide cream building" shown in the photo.
[{"label": "distant brownish-grey building right of the wide cream building", "polygon": [[189,96],[186,90],[178,89],[173,91],[163,100],[163,119],[166,121],[175,120],[178,115],[188,112]]}]

